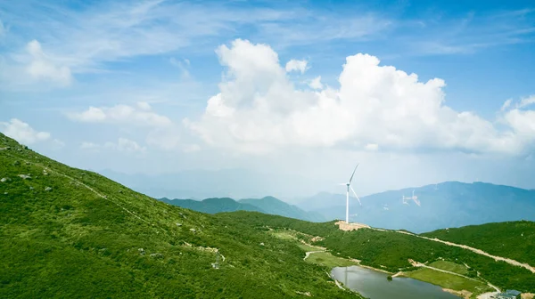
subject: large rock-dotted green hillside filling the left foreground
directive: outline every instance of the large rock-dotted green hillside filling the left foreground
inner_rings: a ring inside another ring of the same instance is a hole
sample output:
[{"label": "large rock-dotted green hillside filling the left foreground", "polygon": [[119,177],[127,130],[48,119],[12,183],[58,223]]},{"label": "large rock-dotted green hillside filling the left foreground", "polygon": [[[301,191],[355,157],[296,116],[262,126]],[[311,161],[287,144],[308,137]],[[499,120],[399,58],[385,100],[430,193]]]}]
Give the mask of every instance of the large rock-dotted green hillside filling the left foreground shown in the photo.
[{"label": "large rock-dotted green hillside filling the left foreground", "polygon": [[355,297],[246,220],[169,206],[3,134],[0,149],[2,298]]}]

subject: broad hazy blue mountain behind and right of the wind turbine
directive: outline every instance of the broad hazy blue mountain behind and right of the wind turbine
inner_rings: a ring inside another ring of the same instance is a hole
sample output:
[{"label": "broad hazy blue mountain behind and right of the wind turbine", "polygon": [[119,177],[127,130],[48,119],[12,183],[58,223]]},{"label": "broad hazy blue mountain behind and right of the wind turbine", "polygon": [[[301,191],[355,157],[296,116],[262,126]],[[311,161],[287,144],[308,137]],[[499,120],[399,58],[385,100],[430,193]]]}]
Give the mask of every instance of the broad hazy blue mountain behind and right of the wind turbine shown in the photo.
[{"label": "broad hazy blue mountain behind and right of the wind turbine", "polygon": [[[408,205],[402,196],[421,202]],[[535,220],[535,191],[484,182],[442,182],[420,188],[391,190],[360,198],[350,198],[350,221],[386,229],[415,232],[459,227],[486,222]],[[345,218],[345,195],[319,193],[298,204],[309,212],[327,219]]]}]

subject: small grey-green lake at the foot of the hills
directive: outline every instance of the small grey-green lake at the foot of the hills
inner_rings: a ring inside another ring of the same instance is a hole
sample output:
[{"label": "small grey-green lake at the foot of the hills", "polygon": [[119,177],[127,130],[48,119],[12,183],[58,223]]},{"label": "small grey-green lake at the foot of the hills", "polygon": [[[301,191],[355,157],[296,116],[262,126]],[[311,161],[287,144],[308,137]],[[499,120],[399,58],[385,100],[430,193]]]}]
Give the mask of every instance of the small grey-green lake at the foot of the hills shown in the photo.
[{"label": "small grey-green lake at the foot of the hills", "polygon": [[388,274],[363,267],[336,267],[331,273],[344,287],[370,299],[459,299],[430,283],[401,277],[388,281]]}]

